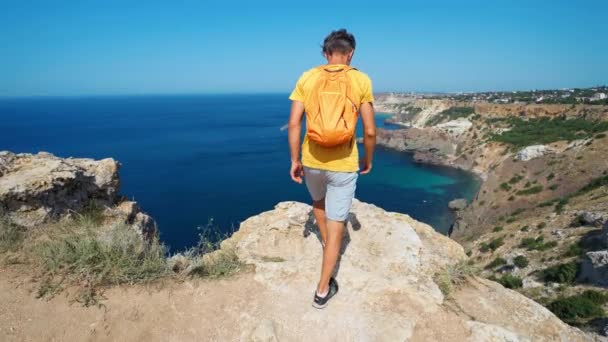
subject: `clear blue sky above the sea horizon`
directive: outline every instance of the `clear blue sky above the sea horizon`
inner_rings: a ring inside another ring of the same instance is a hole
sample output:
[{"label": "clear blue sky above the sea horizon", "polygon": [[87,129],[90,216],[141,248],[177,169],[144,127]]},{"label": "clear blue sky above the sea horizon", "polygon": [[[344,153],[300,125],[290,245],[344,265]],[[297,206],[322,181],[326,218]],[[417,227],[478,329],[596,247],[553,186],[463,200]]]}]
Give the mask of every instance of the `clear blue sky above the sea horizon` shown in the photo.
[{"label": "clear blue sky above the sea horizon", "polygon": [[608,1],[2,1],[0,96],[289,92],[357,38],[375,91],[608,83]]}]

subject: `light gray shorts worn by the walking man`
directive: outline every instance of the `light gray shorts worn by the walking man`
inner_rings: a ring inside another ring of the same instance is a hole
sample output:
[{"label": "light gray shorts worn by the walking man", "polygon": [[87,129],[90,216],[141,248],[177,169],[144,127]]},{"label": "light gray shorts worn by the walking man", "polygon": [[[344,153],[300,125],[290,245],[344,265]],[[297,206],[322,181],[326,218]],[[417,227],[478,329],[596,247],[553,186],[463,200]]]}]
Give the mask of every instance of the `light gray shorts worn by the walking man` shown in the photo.
[{"label": "light gray shorts worn by the walking man", "polygon": [[357,188],[357,172],[336,172],[304,167],[306,187],[313,201],[325,198],[325,216],[346,221]]}]

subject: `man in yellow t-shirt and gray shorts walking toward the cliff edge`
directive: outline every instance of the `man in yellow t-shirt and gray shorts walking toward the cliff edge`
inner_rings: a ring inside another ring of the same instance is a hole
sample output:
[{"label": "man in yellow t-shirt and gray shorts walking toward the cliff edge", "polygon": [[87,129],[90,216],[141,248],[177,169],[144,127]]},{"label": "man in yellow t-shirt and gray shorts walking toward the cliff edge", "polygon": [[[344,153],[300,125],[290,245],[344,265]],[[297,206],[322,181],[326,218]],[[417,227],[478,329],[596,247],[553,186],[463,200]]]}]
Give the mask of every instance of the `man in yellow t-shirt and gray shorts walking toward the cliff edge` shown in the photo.
[{"label": "man in yellow t-shirt and gray shorts walking toward the cliff edge", "polygon": [[[376,143],[371,80],[366,74],[350,67],[354,52],[355,38],[352,34],[344,29],[331,32],[323,42],[327,64],[304,72],[289,96],[292,100],[289,118],[290,174],[296,183],[302,183],[302,176],[305,178],[323,246],[321,277],[313,300],[316,308],[327,306],[328,300],[338,292],[338,283],[332,273],[355,194],[357,172],[359,166],[362,175],[371,171]],[[336,84],[334,91],[319,90],[332,82]],[[324,100],[323,96],[325,99],[333,97]],[[344,98],[347,99],[345,106],[328,109]],[[349,106],[352,106],[352,120],[348,116],[351,112]],[[305,112],[307,134],[302,144],[300,162],[300,136]],[[365,156],[361,160],[354,136],[358,113],[364,131]],[[333,118],[338,121],[332,127],[317,128],[327,125]],[[348,132],[333,134],[335,132],[332,130],[344,130],[342,126],[347,127],[353,136],[349,136]],[[333,145],[341,141],[339,139],[347,140]]]}]

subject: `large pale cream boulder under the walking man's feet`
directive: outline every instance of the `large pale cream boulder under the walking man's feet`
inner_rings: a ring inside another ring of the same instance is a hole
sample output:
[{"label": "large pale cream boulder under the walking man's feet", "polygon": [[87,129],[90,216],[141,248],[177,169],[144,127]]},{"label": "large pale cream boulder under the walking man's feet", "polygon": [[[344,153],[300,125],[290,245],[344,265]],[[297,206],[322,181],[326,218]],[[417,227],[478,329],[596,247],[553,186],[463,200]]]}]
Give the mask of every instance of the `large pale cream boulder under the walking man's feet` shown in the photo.
[{"label": "large pale cream boulder under the walking man's feet", "polygon": [[264,288],[234,317],[242,340],[588,340],[540,304],[488,280],[465,278],[446,300],[435,275],[466,260],[463,248],[408,215],[356,200],[335,272],[340,291],[316,310],[322,247],[311,210],[279,203],[222,242]]}]

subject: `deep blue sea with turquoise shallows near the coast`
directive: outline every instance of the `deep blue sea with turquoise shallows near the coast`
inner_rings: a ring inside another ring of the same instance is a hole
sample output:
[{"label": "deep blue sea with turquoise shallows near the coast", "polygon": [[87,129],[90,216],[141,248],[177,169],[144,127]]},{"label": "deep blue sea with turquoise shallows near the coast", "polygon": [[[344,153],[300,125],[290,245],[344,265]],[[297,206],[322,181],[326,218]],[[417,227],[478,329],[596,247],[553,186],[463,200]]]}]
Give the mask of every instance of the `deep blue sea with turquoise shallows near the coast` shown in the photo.
[{"label": "deep blue sea with turquoise shallows near the coast", "polygon": [[[157,221],[161,240],[176,252],[196,245],[201,230],[229,234],[281,201],[310,201],[305,185],[289,177],[287,97],[3,98],[0,150],[115,158],[121,194]],[[377,126],[403,129],[385,124],[388,117],[377,113]],[[359,177],[356,198],[446,234],[454,220],[448,202],[472,199],[479,185],[465,171],[421,165],[409,153],[378,147],[372,172]]]}]

